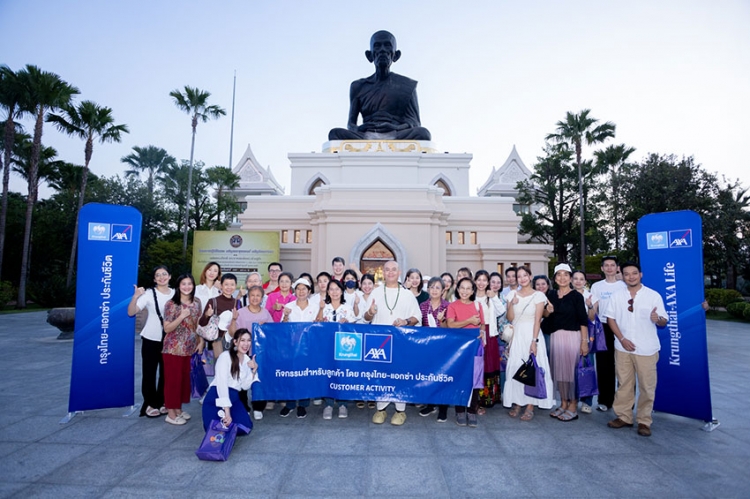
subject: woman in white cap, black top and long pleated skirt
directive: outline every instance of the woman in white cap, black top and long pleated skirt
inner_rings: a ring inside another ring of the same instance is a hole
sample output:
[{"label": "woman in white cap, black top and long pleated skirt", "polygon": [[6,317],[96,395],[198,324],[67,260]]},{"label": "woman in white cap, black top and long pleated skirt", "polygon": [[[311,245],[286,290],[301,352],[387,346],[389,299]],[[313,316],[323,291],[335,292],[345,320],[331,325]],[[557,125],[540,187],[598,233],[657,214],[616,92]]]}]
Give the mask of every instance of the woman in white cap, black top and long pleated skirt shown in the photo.
[{"label": "woman in white cap, black top and long pleated skirt", "polygon": [[552,320],[552,351],[550,366],[555,387],[560,392],[560,407],[550,416],[560,421],[578,419],[578,394],[576,393],[576,365],[579,356],[589,353],[588,317],[583,295],[570,285],[573,271],[567,263],[555,267],[556,291],[547,294],[547,306]]}]

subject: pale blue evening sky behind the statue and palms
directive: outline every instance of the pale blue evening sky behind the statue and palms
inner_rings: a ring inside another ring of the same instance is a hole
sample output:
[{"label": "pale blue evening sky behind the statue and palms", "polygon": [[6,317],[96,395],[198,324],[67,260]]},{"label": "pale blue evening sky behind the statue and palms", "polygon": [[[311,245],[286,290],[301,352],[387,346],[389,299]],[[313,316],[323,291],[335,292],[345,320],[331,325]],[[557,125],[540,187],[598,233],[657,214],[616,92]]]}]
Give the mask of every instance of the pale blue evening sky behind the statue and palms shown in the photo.
[{"label": "pale blue evening sky behind the statue and palms", "polygon": [[[122,143],[95,146],[91,169],[106,176],[133,146],[189,157],[190,120],[168,95],[185,85],[227,110],[196,139],[197,159],[227,165],[236,70],[234,161],[250,144],[289,192],[286,155],[319,152],[345,126],[349,83],[372,73],[364,51],[387,29],[402,51],[392,69],[419,80],[435,146],[474,155],[472,194],[513,145],[531,167],[555,123],[584,108],[614,122],[609,143],[636,159],[692,155],[750,186],[748,26],[741,0],[0,0],[0,62],[53,71],[130,127]],[[51,126],[43,141],[83,162],[82,141]]]}]

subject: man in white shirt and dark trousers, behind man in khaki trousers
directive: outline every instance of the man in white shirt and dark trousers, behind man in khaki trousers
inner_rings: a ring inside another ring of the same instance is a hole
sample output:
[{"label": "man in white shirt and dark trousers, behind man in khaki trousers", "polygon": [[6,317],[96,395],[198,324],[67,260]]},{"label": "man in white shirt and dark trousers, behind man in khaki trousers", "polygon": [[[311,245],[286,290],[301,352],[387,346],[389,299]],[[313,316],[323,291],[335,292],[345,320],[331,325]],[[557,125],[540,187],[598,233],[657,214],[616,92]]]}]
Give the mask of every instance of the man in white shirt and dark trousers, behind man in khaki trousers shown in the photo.
[{"label": "man in white shirt and dark trousers, behind man in khaki trousers", "polygon": [[599,383],[599,405],[598,411],[606,412],[615,401],[615,337],[612,329],[607,324],[607,304],[609,298],[616,292],[626,289],[625,283],[617,279],[620,268],[617,266],[616,256],[605,256],[602,258],[602,272],[604,280],[598,281],[591,286],[591,300],[586,301],[586,306],[594,308],[604,329],[604,338],[607,342],[607,350],[596,352],[596,379]]}]

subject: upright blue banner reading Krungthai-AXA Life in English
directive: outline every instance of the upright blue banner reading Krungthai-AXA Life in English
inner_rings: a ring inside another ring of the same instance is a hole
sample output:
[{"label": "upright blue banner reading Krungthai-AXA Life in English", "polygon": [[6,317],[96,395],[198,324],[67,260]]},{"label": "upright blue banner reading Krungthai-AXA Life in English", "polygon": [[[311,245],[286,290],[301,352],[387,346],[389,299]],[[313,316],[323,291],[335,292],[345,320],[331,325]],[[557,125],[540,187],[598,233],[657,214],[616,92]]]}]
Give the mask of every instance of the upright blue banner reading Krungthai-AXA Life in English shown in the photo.
[{"label": "upright blue banner reading Krungthai-AXA Life in English", "polygon": [[654,410],[711,421],[703,229],[694,211],[646,215],[638,221],[643,284],[659,292],[667,326],[659,328]]}]

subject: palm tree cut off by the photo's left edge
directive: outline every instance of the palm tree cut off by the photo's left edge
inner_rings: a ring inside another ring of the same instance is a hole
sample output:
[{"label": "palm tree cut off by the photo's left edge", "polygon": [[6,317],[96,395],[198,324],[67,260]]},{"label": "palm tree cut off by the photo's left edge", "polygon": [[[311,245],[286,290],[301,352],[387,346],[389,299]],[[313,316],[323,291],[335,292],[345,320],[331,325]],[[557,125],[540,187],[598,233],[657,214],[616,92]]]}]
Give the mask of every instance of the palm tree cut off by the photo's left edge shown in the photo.
[{"label": "palm tree cut off by the photo's left edge", "polygon": [[[15,120],[23,118],[27,109],[24,101],[25,72],[18,73],[8,66],[0,65],[0,109],[7,114],[3,134],[3,161],[0,169],[3,171],[3,201],[0,209],[0,274],[3,268],[3,254],[5,248],[5,226],[8,220],[8,184],[10,183],[10,163],[13,152],[13,142],[16,128],[21,128]],[[2,280],[2,279],[0,279]]]}]

